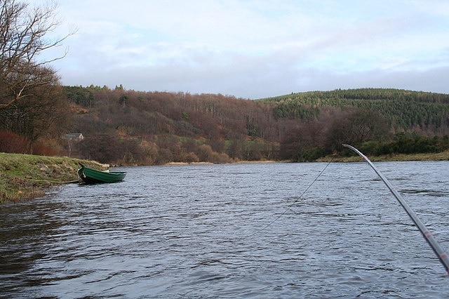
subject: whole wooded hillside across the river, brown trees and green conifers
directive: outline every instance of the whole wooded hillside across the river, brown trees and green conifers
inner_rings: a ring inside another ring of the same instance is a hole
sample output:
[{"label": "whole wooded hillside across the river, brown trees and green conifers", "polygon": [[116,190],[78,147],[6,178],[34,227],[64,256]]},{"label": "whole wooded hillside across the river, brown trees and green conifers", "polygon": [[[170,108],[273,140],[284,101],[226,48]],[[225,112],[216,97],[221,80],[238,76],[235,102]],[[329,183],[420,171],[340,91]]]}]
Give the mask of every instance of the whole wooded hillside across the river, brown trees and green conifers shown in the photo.
[{"label": "whole wooded hillside across the river, brown trees and green conifers", "polygon": [[311,161],[342,142],[370,154],[435,152],[448,143],[444,94],[366,88],[245,100],[121,86],[65,93],[76,109],[72,132],[85,136],[74,154],[109,163]]}]

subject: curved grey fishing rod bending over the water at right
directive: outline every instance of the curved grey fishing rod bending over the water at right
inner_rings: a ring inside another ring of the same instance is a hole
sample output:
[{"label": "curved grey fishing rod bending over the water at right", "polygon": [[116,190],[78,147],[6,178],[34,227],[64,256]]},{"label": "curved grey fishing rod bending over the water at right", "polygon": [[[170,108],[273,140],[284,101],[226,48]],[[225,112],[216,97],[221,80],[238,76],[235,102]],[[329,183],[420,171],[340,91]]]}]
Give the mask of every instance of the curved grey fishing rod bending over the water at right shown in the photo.
[{"label": "curved grey fishing rod bending over the water at right", "polygon": [[412,208],[410,208],[410,206],[408,206],[406,201],[401,197],[401,194],[399,194],[396,191],[396,189],[394,189],[393,185],[390,184],[390,182],[387,180],[387,178],[385,178],[384,175],[382,175],[382,173],[380,173],[380,171],[377,170],[377,168],[370,161],[370,159],[368,159],[368,157],[366,157],[364,154],[359,152],[355,147],[352,147],[351,145],[343,145],[343,146],[353,150],[360,157],[365,159],[365,161],[367,161],[368,164],[370,164],[371,168],[373,168],[375,173],[377,173],[377,175],[379,175],[379,177],[384,181],[385,185],[387,185],[390,192],[399,201],[399,204],[401,204],[401,206],[406,210],[406,212],[408,213],[410,218],[412,218],[413,222],[415,223],[417,228],[420,230],[420,232],[424,236],[424,239],[426,239],[427,243],[429,243],[430,247],[433,249],[436,256],[438,256],[438,258],[440,259],[441,264],[443,264],[443,266],[445,267],[446,272],[448,272],[448,274],[449,274],[448,254],[443,251],[443,248],[441,248],[441,246],[438,244],[438,242],[434,238],[434,235],[429,230],[427,230],[427,227],[424,226],[424,224],[421,222],[420,218],[418,218],[418,216],[415,214],[415,212],[412,210]]}]

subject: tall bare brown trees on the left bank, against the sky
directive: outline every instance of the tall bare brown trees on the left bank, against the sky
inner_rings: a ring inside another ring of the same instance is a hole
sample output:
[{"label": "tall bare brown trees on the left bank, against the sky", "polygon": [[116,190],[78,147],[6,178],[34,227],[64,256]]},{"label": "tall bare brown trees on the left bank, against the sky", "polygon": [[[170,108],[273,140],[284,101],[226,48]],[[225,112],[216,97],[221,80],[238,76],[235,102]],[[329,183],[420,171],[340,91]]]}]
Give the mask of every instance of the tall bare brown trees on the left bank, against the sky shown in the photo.
[{"label": "tall bare brown trees on the left bank, against the sky", "polygon": [[39,60],[70,35],[46,39],[59,25],[55,8],[0,0],[0,129],[26,138],[28,152],[39,138],[60,135],[71,118],[58,75],[48,67],[65,54]]}]

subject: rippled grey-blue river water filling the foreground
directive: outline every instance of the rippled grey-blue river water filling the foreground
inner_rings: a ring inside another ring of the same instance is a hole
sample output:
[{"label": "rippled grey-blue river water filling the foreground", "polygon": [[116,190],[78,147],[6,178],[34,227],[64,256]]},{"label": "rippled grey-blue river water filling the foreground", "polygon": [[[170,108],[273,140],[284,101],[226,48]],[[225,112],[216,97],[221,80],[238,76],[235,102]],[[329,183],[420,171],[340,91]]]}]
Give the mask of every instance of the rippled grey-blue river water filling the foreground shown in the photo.
[{"label": "rippled grey-blue river water filling the foreground", "polygon": [[[449,161],[375,165],[447,251]],[[1,298],[449,296],[365,162],[116,169],[0,206]]]}]

